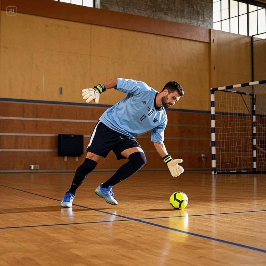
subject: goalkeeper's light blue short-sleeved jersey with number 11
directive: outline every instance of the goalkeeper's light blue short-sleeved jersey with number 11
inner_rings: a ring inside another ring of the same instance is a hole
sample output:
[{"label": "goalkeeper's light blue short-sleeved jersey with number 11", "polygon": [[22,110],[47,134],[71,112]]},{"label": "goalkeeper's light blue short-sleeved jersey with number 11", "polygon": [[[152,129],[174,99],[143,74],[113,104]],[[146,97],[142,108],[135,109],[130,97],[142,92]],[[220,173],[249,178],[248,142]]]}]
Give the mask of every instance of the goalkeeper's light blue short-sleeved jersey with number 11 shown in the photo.
[{"label": "goalkeeper's light blue short-sleeved jersey with number 11", "polygon": [[163,143],[167,124],[165,109],[156,107],[158,92],[145,82],[117,78],[116,90],[126,93],[117,104],[107,109],[100,121],[126,136],[137,137],[151,131],[151,141]]}]

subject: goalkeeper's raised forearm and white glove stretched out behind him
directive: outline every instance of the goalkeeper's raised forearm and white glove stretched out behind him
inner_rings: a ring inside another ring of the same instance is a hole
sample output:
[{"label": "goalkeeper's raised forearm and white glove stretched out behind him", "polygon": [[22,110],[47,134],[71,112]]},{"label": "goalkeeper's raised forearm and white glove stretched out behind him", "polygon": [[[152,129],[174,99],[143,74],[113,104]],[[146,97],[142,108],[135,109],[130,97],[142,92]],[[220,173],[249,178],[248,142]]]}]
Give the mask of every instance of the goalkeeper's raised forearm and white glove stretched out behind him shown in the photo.
[{"label": "goalkeeper's raised forearm and white glove stretched out behind him", "polygon": [[83,99],[86,100],[87,103],[90,103],[92,100],[95,101],[96,104],[99,103],[100,94],[107,89],[115,88],[117,86],[117,79],[110,79],[105,81],[104,83],[98,84],[93,88],[87,88],[82,90]]}]

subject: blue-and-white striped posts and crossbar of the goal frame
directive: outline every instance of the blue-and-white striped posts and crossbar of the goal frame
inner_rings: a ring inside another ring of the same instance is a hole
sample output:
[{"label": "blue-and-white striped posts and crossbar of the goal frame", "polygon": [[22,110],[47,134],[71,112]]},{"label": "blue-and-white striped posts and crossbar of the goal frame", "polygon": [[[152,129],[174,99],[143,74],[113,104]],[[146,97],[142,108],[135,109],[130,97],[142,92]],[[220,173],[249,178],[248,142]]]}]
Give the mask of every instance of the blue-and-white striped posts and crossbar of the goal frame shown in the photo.
[{"label": "blue-and-white striped posts and crossbar of the goal frame", "polygon": [[[221,90],[225,92],[232,92],[237,94],[245,94],[252,96],[252,150],[253,150],[253,171],[256,172],[257,169],[257,156],[256,156],[256,98],[253,93],[247,93],[247,92],[241,92],[241,91],[234,91],[232,89],[235,88],[241,88],[241,87],[247,87],[247,86],[253,86],[257,84],[265,84],[266,79],[259,80],[259,81],[253,81],[249,83],[242,83],[242,84],[236,84],[236,85],[229,85],[224,87],[217,87],[217,88],[211,88],[211,143],[212,143],[212,174],[216,174],[216,140],[215,140],[215,98],[214,93],[215,91]],[[236,171],[229,171],[229,172],[236,172]]]}]

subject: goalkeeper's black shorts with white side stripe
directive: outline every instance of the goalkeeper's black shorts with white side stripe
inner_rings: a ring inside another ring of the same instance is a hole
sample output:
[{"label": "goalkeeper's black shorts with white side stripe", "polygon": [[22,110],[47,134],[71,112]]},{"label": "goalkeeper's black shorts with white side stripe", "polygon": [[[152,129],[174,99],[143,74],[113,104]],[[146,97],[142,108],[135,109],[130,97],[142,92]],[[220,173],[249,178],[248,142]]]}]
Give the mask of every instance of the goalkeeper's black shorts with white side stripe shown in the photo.
[{"label": "goalkeeper's black shorts with white side stripe", "polygon": [[91,134],[90,143],[86,151],[104,158],[110,151],[113,151],[117,160],[121,160],[125,159],[121,152],[132,147],[141,148],[134,137],[112,130],[99,120]]}]

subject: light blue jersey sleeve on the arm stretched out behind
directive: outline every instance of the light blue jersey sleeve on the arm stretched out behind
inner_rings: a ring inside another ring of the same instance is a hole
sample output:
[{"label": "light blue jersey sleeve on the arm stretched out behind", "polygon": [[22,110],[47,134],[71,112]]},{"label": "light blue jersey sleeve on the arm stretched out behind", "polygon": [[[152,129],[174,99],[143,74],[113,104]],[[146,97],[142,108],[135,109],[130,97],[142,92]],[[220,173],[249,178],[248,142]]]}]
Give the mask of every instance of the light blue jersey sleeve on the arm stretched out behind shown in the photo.
[{"label": "light blue jersey sleeve on the arm stretched out behind", "polygon": [[136,94],[151,89],[145,82],[142,81],[117,78],[117,86],[115,87],[115,90],[119,90],[127,94]]}]

